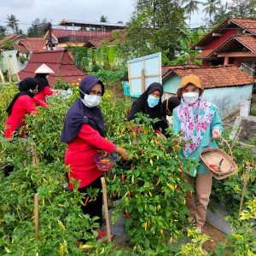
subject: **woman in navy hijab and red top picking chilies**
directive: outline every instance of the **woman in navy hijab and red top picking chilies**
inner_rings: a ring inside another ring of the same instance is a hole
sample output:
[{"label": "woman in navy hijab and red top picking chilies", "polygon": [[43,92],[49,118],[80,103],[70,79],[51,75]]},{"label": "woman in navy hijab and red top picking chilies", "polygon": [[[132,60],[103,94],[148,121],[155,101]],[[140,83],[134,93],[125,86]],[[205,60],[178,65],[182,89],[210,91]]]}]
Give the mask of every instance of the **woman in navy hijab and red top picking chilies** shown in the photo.
[{"label": "woman in navy hijab and red top picking chilies", "polygon": [[[87,75],[82,79],[79,90],[80,98],[67,112],[61,142],[67,143],[65,164],[71,169],[69,189],[73,189],[71,177],[79,181],[79,191],[82,193],[88,192],[89,188],[100,189],[96,201],[88,201],[82,209],[90,218],[99,217],[98,222],[101,224],[102,171],[97,169],[94,156],[98,154],[99,149],[108,153],[116,152],[125,160],[128,159],[128,154],[124,148],[119,148],[104,138],[102,111],[97,107],[104,94],[102,81],[95,76]],[[102,233],[97,231],[100,237]]]}]

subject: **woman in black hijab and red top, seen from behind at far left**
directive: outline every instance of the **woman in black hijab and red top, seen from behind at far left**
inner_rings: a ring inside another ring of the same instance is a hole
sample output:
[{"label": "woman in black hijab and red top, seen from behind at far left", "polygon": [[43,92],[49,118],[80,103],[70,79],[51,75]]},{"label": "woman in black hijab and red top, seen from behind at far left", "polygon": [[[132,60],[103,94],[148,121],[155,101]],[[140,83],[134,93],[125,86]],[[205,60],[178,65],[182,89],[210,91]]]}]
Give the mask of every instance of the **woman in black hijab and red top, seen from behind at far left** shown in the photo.
[{"label": "woman in black hijab and red top, seen from behind at far left", "polygon": [[[13,101],[6,109],[8,119],[5,122],[4,137],[14,137],[15,131],[19,132],[20,137],[24,137],[25,133],[20,132],[20,127],[25,125],[24,119],[26,114],[38,113],[38,109],[33,100],[33,96],[38,92],[38,81],[33,78],[26,78],[20,81],[20,92],[17,93]],[[43,107],[45,103],[40,104]]]}]

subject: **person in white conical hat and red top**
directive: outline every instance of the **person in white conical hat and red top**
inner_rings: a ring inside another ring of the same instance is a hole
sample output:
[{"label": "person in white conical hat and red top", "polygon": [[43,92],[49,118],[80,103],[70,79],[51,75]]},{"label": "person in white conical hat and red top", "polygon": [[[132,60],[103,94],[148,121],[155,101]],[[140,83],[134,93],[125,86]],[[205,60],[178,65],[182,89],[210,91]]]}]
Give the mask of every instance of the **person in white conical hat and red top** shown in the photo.
[{"label": "person in white conical hat and red top", "polygon": [[53,95],[53,91],[49,88],[49,82],[47,77],[49,73],[54,73],[48,66],[42,64],[35,71],[35,79],[38,80],[38,93],[34,96],[34,99],[38,102],[46,102],[46,96]]}]

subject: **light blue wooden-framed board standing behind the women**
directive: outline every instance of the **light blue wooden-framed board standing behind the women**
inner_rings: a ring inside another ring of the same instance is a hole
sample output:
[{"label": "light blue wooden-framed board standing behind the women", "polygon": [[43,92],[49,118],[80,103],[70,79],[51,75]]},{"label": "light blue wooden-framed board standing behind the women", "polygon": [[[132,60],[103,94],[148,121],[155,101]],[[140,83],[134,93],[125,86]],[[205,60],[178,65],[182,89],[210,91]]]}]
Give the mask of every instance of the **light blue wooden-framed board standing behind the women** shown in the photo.
[{"label": "light blue wooden-framed board standing behind the women", "polygon": [[127,61],[130,95],[140,96],[154,82],[162,84],[161,53]]}]

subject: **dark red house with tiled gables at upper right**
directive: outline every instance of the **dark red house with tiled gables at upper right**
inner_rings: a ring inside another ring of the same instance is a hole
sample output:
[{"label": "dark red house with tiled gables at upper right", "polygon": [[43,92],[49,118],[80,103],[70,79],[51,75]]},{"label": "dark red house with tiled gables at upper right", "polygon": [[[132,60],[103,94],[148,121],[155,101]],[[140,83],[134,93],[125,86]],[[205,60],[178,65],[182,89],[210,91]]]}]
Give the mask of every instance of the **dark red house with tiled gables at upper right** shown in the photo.
[{"label": "dark red house with tiled gables at upper right", "polygon": [[256,77],[256,18],[228,18],[192,49],[201,49],[202,67],[232,64]]}]

